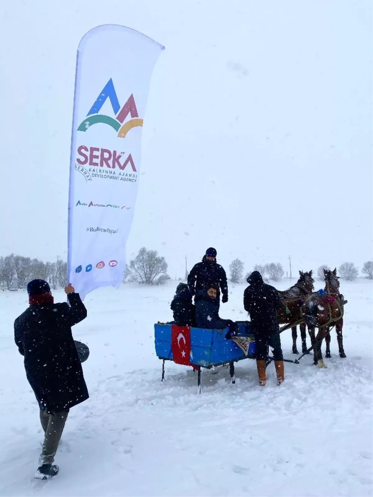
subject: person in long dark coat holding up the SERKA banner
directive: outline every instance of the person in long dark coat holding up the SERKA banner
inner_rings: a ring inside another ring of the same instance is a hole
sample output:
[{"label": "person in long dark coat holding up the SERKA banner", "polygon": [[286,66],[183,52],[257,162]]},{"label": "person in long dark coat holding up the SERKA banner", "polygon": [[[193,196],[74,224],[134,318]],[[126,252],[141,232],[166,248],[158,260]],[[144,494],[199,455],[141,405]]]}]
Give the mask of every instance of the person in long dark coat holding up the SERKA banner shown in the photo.
[{"label": "person in long dark coat holding up the SERKA banner", "polygon": [[45,433],[35,478],[58,473],[53,465],[69,409],[89,398],[71,327],[87,317],[78,293],[65,288],[70,306],[55,304],[44,280],[27,285],[29,307],[14,322],[14,339],[24,356],[27,380],[40,408]]}]

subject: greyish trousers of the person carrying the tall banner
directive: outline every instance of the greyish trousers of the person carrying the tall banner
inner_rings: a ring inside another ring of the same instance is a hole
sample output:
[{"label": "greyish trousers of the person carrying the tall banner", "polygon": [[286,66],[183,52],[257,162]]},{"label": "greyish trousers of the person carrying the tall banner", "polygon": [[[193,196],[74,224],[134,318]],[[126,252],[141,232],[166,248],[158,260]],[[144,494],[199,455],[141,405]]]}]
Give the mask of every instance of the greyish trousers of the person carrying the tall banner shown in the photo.
[{"label": "greyish trousers of the person carrying the tall banner", "polygon": [[39,466],[53,463],[68,414],[69,411],[48,414],[46,411],[40,410],[40,422],[45,436],[43,450],[39,457]]}]

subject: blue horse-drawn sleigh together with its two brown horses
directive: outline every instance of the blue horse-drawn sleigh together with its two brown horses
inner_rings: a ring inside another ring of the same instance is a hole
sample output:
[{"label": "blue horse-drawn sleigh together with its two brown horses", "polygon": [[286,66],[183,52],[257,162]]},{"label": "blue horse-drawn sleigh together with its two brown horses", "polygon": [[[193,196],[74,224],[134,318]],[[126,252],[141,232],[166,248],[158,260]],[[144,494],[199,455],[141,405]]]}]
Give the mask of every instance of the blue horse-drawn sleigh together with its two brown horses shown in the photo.
[{"label": "blue horse-drawn sleigh together with its two brown horses", "polygon": [[[326,357],[330,357],[330,331],[336,327],[340,357],[346,357],[343,349],[343,314],[344,300],[339,293],[337,271],[324,270],[325,290],[314,292],[312,271],[299,271],[300,278],[295,285],[280,292],[282,308],[278,313],[279,323],[283,326],[280,332],[292,330],[293,353],[296,348],[296,327],[300,326],[302,338],[302,355],[295,360],[284,359],[284,362],[299,364],[299,360],[312,350],[314,363],[325,367],[321,343],[326,340]],[[155,329],[156,354],[163,361],[162,381],[165,377],[165,362],[192,366],[197,371],[197,385],[201,389],[201,368],[211,369],[229,364],[232,383],[235,383],[234,363],[244,359],[256,358],[254,334],[249,322],[238,322],[238,332],[229,336],[229,328],[225,330],[205,330],[191,327],[180,327],[169,324],[157,324]],[[306,326],[311,338],[311,347],[306,345]],[[316,335],[316,328],[318,329]],[[268,355],[266,365],[272,361]]]}]

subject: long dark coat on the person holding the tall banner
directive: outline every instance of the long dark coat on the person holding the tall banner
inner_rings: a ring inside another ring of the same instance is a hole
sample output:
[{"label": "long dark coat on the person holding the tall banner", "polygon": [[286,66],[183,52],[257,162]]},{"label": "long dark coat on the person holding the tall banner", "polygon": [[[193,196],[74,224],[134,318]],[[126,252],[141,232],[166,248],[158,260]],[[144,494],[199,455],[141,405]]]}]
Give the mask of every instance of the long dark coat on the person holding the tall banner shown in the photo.
[{"label": "long dark coat on the person holding the tall banner", "polygon": [[30,306],[14,322],[14,339],[24,356],[27,380],[39,407],[66,411],[89,398],[71,327],[87,317],[78,293],[60,304]]}]

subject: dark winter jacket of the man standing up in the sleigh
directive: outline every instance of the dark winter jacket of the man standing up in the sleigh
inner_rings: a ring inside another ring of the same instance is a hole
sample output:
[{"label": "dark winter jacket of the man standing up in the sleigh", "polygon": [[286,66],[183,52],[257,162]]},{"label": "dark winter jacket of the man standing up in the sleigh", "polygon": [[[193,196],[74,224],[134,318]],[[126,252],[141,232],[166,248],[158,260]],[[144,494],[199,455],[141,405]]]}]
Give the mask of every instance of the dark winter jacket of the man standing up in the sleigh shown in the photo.
[{"label": "dark winter jacket of the man standing up in the sleigh", "polygon": [[228,300],[227,275],[223,267],[216,260],[207,260],[203,256],[202,262],[197,262],[189,273],[188,287],[191,294],[196,295],[209,284],[216,285],[217,290],[220,287],[224,300]]}]

